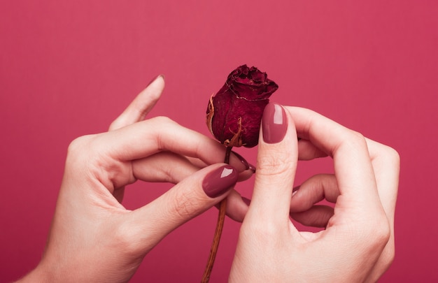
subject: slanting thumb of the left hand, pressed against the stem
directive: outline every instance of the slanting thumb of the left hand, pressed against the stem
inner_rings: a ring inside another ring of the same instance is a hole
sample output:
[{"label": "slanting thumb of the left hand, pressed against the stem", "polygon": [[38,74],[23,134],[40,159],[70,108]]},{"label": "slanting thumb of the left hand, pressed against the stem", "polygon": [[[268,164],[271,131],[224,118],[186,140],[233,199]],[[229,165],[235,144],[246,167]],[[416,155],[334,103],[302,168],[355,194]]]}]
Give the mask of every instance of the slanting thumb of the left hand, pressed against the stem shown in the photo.
[{"label": "slanting thumb of the left hand, pressed against the stem", "polygon": [[228,164],[213,164],[176,184],[165,194],[132,212],[133,237],[146,252],[181,224],[202,214],[227,196],[239,172]]}]

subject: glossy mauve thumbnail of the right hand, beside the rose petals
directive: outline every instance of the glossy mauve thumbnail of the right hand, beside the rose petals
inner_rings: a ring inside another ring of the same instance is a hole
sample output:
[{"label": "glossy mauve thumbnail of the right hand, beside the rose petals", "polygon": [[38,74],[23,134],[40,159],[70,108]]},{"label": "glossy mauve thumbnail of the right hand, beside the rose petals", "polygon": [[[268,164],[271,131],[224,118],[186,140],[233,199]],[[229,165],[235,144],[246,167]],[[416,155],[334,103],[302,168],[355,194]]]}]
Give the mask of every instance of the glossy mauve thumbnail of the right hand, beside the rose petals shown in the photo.
[{"label": "glossy mauve thumbnail of the right hand, beside the rose petals", "polygon": [[263,112],[263,140],[265,143],[279,143],[288,130],[285,110],[277,103],[269,103]]}]

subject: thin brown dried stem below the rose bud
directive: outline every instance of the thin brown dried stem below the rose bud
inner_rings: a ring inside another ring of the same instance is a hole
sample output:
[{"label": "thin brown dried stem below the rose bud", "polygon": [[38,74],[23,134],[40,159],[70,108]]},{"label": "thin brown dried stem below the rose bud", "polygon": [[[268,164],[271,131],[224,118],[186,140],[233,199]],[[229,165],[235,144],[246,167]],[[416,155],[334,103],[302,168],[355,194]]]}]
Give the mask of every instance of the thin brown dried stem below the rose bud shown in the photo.
[{"label": "thin brown dried stem below the rose bud", "polygon": [[[232,146],[227,146],[227,152],[225,152],[225,163],[229,164],[229,154],[231,154]],[[222,229],[224,227],[225,222],[225,212],[227,208],[227,198],[224,198],[220,201],[219,204],[219,214],[218,214],[218,222],[216,224],[216,231],[213,237],[213,243],[211,244],[210,256],[207,261],[207,266],[204,270],[204,275],[202,275],[202,283],[207,283],[210,280],[211,270],[213,270],[213,263],[216,259],[216,254],[218,253],[218,247],[220,242],[220,236],[222,235]]]}]

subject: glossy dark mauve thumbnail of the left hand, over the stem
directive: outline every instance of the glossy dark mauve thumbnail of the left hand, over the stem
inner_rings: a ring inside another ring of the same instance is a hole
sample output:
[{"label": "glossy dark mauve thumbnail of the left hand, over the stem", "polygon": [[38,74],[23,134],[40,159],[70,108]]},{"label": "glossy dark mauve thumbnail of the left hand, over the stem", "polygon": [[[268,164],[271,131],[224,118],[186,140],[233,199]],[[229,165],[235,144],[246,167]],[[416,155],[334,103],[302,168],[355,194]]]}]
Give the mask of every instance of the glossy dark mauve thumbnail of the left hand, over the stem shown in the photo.
[{"label": "glossy dark mauve thumbnail of the left hand, over the stem", "polygon": [[229,165],[221,166],[211,171],[202,181],[202,189],[207,196],[216,198],[228,191],[237,182],[239,173]]}]

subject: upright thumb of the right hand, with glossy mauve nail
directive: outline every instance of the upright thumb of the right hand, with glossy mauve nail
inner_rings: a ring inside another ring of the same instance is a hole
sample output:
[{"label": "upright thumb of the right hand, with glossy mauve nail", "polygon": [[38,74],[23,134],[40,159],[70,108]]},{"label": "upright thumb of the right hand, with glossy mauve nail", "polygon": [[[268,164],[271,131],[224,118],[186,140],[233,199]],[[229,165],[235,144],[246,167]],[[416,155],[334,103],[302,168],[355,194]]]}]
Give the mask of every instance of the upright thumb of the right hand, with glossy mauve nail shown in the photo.
[{"label": "upright thumb of the right hand, with glossy mauve nail", "polygon": [[269,103],[261,130],[247,217],[258,223],[287,224],[298,156],[295,124],[282,106]]}]

